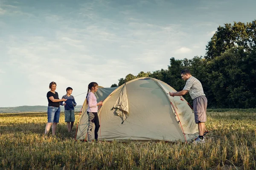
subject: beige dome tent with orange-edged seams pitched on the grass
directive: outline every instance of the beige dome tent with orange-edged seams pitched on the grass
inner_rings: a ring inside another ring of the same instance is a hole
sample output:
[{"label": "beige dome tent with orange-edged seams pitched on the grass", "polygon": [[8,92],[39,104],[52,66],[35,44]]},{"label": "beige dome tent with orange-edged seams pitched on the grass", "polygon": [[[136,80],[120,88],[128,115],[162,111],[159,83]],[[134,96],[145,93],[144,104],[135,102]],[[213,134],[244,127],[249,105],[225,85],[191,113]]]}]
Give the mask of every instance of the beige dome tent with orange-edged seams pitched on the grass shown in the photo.
[{"label": "beige dome tent with orange-edged seams pitched on the grass", "polygon": [[[194,113],[182,96],[169,96],[172,91],[175,89],[151,77],[133,79],[115,88],[99,88],[95,93],[97,102],[103,101],[98,110],[99,140],[186,142],[195,139],[198,127]],[[87,138],[86,110],[84,101],[77,140]]]}]

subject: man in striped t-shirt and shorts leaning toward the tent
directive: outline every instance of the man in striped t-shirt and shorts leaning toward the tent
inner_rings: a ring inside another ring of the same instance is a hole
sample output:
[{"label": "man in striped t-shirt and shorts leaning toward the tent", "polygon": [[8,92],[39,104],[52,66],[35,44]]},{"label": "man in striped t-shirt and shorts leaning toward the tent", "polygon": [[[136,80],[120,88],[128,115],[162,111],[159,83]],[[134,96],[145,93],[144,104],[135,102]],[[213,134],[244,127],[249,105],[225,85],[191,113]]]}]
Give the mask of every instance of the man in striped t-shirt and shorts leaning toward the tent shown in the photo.
[{"label": "man in striped t-shirt and shorts leaning toward the tent", "polygon": [[195,114],[195,123],[198,124],[199,136],[196,143],[204,143],[204,127],[206,122],[207,98],[201,82],[193,77],[188,69],[181,71],[181,78],[186,81],[182,91],[172,92],[170,96],[183,96],[189,92],[193,99],[193,108]]}]

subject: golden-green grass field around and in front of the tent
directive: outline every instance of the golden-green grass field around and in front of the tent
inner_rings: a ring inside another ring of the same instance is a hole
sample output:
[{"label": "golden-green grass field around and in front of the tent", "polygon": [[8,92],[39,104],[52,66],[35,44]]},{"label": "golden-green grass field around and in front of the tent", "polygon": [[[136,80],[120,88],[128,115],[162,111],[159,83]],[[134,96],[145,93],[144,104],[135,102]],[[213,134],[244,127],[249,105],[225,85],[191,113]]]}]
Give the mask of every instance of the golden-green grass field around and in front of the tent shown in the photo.
[{"label": "golden-green grass field around and in front of the tent", "polygon": [[74,140],[76,127],[67,132],[64,113],[57,137],[47,139],[47,113],[3,113],[0,169],[256,169],[256,109],[209,109],[207,116],[205,144],[88,144]]}]

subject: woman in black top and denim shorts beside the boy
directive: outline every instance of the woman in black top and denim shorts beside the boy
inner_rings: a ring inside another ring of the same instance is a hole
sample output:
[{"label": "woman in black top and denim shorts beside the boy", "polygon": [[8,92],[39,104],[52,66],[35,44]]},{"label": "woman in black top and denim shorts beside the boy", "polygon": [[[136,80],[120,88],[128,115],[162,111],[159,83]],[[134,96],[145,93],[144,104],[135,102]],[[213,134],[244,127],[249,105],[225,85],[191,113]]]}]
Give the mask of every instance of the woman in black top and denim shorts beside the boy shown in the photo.
[{"label": "woman in black top and denim shorts beside the boy", "polygon": [[48,99],[48,109],[47,109],[47,115],[48,115],[48,121],[45,127],[44,135],[46,136],[49,132],[51,125],[52,125],[52,136],[55,136],[55,130],[57,128],[57,123],[60,119],[60,102],[66,101],[67,99],[59,99],[58,93],[56,90],[56,83],[51,82],[49,84],[49,89],[51,89],[47,93],[47,99]]}]

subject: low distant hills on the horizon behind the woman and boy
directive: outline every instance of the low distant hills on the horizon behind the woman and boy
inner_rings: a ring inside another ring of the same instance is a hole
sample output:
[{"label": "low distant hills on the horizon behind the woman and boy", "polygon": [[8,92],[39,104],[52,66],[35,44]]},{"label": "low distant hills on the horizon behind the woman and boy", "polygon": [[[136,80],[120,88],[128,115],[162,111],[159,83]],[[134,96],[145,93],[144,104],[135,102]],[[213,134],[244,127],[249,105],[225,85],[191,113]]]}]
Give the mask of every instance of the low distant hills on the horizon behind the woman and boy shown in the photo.
[{"label": "low distant hills on the horizon behind the woman and boy", "polygon": [[[47,112],[48,106],[18,106],[0,108],[0,113],[20,113],[20,112]],[[75,111],[80,111],[82,105],[77,105]],[[61,112],[64,112],[64,106],[61,106]]]}]

